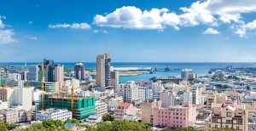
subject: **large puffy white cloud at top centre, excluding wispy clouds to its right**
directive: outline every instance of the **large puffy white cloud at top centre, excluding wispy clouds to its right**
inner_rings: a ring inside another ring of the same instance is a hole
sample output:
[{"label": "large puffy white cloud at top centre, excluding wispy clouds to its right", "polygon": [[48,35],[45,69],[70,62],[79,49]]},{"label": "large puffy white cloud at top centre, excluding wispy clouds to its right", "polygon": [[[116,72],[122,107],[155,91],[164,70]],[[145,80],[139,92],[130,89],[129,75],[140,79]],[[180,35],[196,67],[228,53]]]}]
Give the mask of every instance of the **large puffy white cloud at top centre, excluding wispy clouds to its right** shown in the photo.
[{"label": "large puffy white cloud at top centre, excluding wispy clouds to its right", "polygon": [[96,14],[94,24],[97,26],[122,27],[125,29],[164,29],[172,26],[175,29],[179,24],[177,14],[168,13],[168,9],[137,9],[133,6],[116,9],[106,16]]}]

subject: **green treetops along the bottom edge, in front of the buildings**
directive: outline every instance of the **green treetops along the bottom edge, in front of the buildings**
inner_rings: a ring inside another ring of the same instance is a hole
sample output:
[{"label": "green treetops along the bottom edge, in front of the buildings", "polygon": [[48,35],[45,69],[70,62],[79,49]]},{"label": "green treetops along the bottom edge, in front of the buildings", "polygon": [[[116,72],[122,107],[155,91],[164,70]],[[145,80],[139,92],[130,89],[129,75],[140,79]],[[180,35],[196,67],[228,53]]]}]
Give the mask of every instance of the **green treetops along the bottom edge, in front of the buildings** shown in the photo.
[{"label": "green treetops along the bottom edge, in front of the buildings", "polygon": [[[75,119],[68,119],[66,122],[77,122]],[[77,122],[79,123],[79,122]],[[152,124],[151,123],[143,123],[143,122],[136,122],[136,121],[127,121],[127,120],[120,120],[113,122],[98,122],[96,125],[83,125],[86,128],[86,131],[151,131]],[[14,128],[13,124],[6,124],[2,120],[0,120],[0,131],[7,131],[7,130],[14,130],[14,131],[68,131],[65,128],[65,125],[61,120],[44,120],[42,123],[33,123],[28,128]],[[175,128],[172,131],[235,131],[231,128],[205,128],[205,129],[195,129],[193,127],[188,128]],[[169,128],[164,128],[162,131],[171,131]]]}]

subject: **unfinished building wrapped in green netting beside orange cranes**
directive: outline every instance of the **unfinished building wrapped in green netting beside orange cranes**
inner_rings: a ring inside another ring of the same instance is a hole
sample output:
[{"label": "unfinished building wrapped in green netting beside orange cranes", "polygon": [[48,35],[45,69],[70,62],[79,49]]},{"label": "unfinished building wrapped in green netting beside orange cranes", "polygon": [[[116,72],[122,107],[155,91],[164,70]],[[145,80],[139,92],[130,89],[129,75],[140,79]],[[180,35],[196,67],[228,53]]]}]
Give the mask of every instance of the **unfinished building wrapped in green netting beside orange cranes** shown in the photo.
[{"label": "unfinished building wrapped in green netting beside orange cranes", "polygon": [[44,108],[67,109],[73,112],[73,118],[83,122],[85,118],[96,113],[95,97],[67,96],[66,94],[45,94]]}]

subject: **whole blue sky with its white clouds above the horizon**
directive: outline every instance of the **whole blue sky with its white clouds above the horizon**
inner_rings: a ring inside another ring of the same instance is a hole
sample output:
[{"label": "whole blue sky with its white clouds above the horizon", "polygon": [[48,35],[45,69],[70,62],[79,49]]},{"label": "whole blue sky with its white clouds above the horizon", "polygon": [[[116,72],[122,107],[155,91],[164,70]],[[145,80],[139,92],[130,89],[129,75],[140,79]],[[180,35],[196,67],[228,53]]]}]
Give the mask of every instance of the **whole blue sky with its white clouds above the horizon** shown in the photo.
[{"label": "whole blue sky with its white clouds above the horizon", "polygon": [[[245,2],[246,1],[246,2]],[[255,0],[3,0],[0,61],[255,62]]]}]

